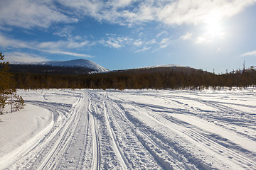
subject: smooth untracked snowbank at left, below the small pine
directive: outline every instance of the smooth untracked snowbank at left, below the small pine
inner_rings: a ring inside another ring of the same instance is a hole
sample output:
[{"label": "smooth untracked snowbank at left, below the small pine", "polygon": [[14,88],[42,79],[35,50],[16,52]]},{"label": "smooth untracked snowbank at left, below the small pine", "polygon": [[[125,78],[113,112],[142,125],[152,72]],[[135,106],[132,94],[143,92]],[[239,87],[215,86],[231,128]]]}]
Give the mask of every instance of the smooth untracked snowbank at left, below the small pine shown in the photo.
[{"label": "smooth untracked snowbank at left, below the small pine", "polygon": [[27,104],[20,112],[1,115],[0,169],[9,159],[23,154],[53,126],[53,117],[46,108]]}]

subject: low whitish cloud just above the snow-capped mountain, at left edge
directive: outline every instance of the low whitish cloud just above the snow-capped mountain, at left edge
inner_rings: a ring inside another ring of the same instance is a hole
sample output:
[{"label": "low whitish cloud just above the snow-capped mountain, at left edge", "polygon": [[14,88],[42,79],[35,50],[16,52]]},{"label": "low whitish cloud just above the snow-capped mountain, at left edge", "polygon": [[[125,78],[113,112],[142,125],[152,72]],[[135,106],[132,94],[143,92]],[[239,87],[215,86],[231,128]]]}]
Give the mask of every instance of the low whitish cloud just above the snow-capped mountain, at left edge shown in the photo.
[{"label": "low whitish cloud just above the snow-capped mountain, at left edge", "polygon": [[25,52],[6,52],[4,57],[6,62],[44,62],[48,60],[45,57]]}]

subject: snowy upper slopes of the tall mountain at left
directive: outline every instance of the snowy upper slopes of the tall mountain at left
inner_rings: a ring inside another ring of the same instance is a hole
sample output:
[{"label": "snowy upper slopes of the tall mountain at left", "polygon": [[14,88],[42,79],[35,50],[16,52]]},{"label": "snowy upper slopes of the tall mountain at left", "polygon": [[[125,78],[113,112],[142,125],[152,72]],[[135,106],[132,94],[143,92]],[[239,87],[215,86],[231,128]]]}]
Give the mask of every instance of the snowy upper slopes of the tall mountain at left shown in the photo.
[{"label": "snowy upper slopes of the tall mountain at left", "polygon": [[48,62],[11,62],[11,64],[35,64],[35,65],[49,65],[53,67],[82,67],[86,69],[92,69],[91,73],[100,73],[109,71],[105,67],[100,66],[99,64],[92,62],[90,60],[78,59],[78,60],[69,60],[69,61],[48,61]]}]

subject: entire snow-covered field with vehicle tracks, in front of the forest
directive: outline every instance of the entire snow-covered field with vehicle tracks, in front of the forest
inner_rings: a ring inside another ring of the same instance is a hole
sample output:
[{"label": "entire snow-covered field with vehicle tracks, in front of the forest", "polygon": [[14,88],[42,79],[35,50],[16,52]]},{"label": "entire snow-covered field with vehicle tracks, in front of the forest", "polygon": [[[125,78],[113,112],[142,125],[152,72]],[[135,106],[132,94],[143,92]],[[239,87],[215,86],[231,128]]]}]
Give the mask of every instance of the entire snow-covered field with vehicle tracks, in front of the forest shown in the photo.
[{"label": "entire snow-covered field with vehicle tracks, in front of the forest", "polygon": [[18,91],[0,115],[0,169],[256,169],[256,95]]}]

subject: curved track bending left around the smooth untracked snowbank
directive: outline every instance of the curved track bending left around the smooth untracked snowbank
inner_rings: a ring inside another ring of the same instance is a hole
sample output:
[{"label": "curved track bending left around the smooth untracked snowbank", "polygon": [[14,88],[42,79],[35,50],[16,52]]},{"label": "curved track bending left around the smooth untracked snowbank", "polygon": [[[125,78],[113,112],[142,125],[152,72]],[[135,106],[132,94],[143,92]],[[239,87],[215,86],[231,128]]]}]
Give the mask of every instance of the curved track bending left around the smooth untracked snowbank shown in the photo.
[{"label": "curved track bending left around the smooth untracked snowbank", "polygon": [[[63,131],[66,120],[65,112],[70,110],[70,106],[66,104],[41,102],[41,101],[27,101],[33,105],[46,108],[53,113],[53,127],[49,132],[31,149],[22,154],[22,157],[14,160],[14,163],[9,169],[37,169],[44,157],[50,152],[55,142],[58,140],[58,135]],[[75,107],[75,104],[73,105]],[[74,108],[72,108],[74,110]],[[14,158],[15,159],[15,158]]]}]

